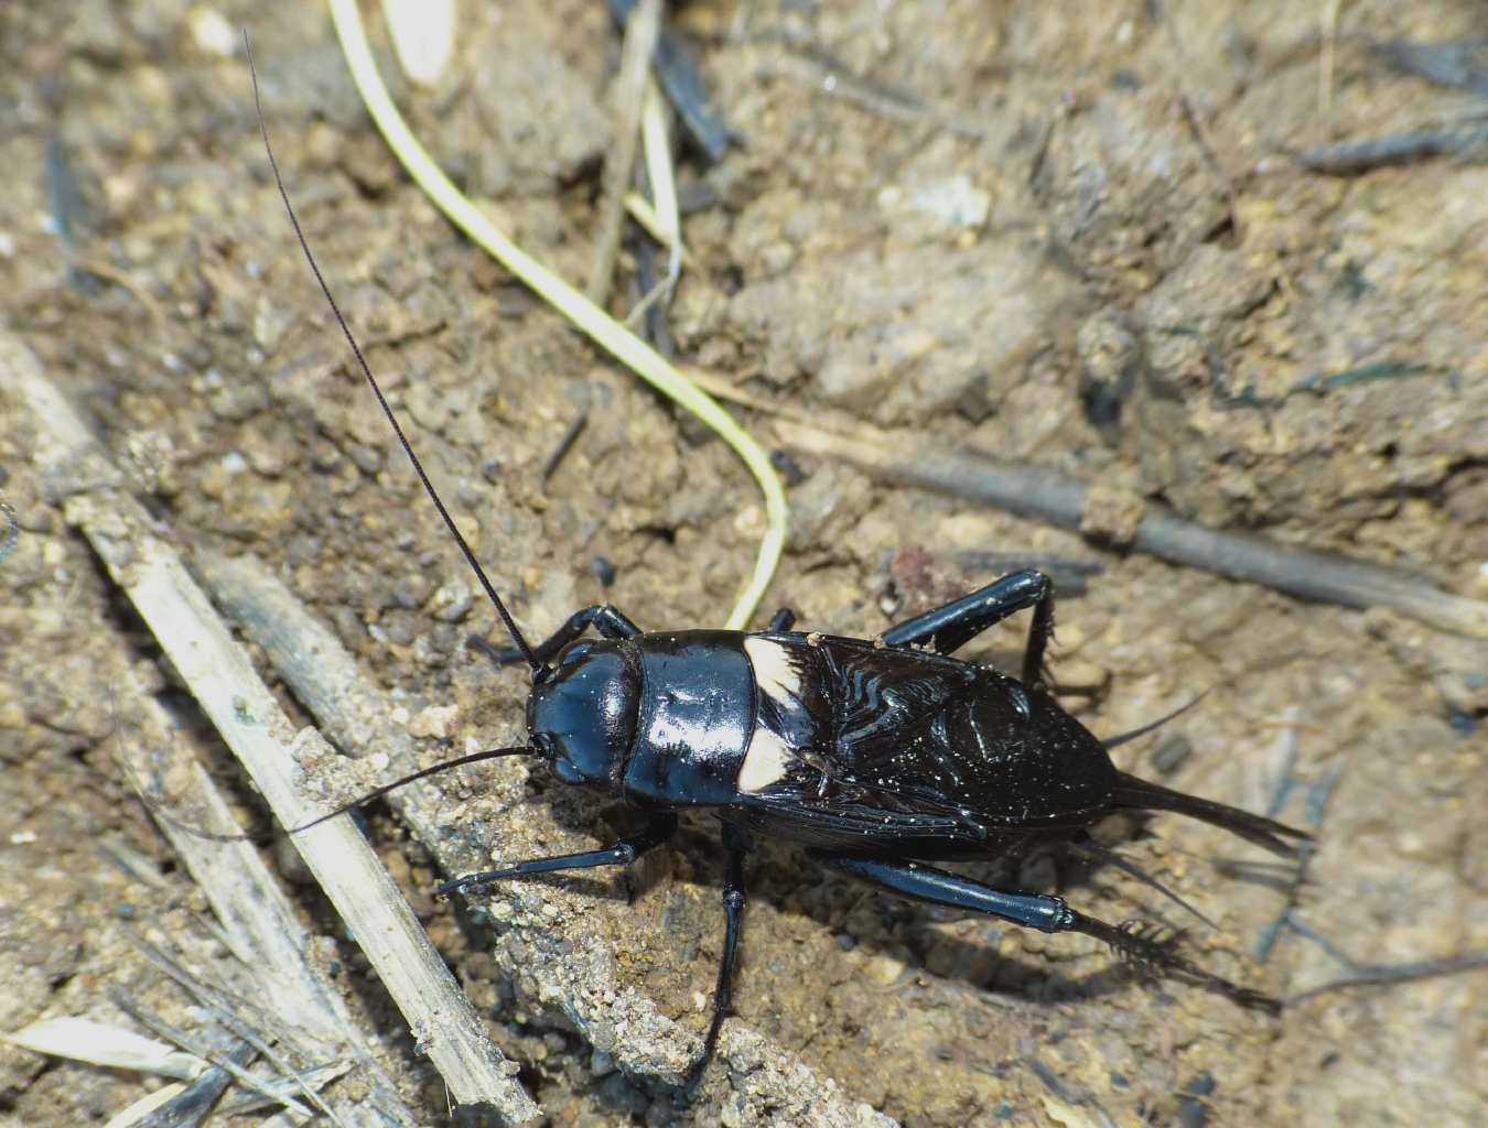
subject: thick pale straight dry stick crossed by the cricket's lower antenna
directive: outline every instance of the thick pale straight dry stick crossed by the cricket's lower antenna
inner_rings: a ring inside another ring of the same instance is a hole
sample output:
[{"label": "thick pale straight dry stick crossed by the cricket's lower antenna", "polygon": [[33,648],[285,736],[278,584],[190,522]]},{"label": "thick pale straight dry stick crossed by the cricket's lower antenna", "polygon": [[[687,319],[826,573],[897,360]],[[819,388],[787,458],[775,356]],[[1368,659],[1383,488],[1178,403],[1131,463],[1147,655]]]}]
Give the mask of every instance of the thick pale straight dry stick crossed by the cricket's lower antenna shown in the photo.
[{"label": "thick pale straight dry stick crossed by the cricket's lower antenna", "polygon": [[[0,372],[31,409],[37,462],[52,496],[65,498],[68,523],[88,537],[275,817],[284,826],[314,819],[318,808],[295,783],[298,756],[333,756],[329,745],[314,730],[293,733],[143,505],[113,484],[118,474],[34,355],[0,336]],[[351,820],[330,820],[292,841],[429,1048],[454,1098],[487,1104],[507,1124],[540,1119],[516,1070],[487,1039],[470,1002]],[[333,994],[329,985],[324,991]]]}]

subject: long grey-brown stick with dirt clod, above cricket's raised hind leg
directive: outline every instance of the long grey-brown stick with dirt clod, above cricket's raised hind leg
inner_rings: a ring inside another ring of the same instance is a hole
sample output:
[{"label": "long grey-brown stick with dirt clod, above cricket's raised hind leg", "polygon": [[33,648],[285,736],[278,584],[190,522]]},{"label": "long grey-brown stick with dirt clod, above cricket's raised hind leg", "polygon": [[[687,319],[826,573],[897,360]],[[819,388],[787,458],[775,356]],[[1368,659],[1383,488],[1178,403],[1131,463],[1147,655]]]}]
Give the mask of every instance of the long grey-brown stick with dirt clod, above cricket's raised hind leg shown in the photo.
[{"label": "long grey-brown stick with dirt clod, above cricket's raised hind leg", "polygon": [[[1080,531],[1085,520],[1089,487],[1054,470],[994,462],[967,452],[918,453],[931,449],[918,443],[914,444],[914,459],[906,459],[894,452],[887,437],[872,438],[866,428],[853,438],[786,421],[777,421],[775,430],[796,450],[838,458],[876,477],[973,498],[1065,529]],[[906,449],[906,444],[900,441],[897,447]],[[1481,600],[1454,596],[1418,577],[1332,553],[1207,529],[1156,505],[1144,508],[1129,547],[1302,599],[1353,608],[1391,608],[1440,630],[1488,638],[1488,603]]]}]

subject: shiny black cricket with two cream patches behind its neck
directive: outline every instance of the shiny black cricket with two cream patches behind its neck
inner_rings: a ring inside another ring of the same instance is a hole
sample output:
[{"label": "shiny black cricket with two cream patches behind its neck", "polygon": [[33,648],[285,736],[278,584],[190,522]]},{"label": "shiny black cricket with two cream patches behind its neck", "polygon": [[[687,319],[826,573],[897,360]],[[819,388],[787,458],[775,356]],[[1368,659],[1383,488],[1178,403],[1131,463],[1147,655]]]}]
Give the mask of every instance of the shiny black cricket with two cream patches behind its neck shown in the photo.
[{"label": "shiny black cricket with two cream patches behind its neck", "polygon": [[[754,835],[799,843],[821,865],[903,898],[1042,932],[1082,932],[1150,969],[1247,1005],[1275,1006],[1184,962],[1171,938],[1150,929],[1107,924],[1061,898],[994,889],[927,863],[995,859],[1062,843],[1150,883],[1086,834],[1107,814],[1125,810],[1178,811],[1287,858],[1296,855],[1293,841],[1308,838],[1271,819],[1119,771],[1107,749],[1152,727],[1103,743],[1049,693],[1043,660],[1054,630],[1054,587],[1042,572],[1015,572],[873,639],[793,630],[796,617],[789,609],[756,632],[646,632],[604,605],[574,612],[552,638],[530,645],[429,482],[315,265],[269,147],[262,108],[259,125],[315,281],[424,490],[515,644],[496,654],[525,661],[533,673],[525,745],[426,768],[350,806],[458,764],[531,755],[548,761],[564,783],[603,791],[644,816],[638,832],[607,849],[467,874],[442,886],[440,895],[531,874],[629,865],[673,837],[679,811],[711,808],[722,826],[726,932],[713,1020],[690,1083],[711,1060],[729,1014],[745,905],[744,859]],[[1021,679],[954,657],[976,635],[1024,609],[1033,611],[1033,626]],[[598,638],[583,638],[591,629]]]}]

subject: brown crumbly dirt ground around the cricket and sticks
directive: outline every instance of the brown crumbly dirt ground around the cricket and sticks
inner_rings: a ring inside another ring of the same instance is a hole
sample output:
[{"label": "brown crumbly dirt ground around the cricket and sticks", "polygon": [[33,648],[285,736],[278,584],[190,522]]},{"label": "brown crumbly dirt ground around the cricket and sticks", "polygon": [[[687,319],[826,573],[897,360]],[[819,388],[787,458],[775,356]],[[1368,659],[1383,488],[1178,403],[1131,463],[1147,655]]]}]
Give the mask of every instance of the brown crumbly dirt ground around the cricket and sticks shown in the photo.
[{"label": "brown crumbly dirt ground around the cricket and sticks", "polygon": [[[1481,36],[1482,7],[1360,0],[1324,43],[1327,7],[682,7],[738,141],[682,166],[695,210],[667,320],[679,357],[763,400],[888,428],[906,453],[964,443],[1488,599],[1488,165],[1327,175],[1293,159],[1442,122],[1481,131],[1481,54],[1475,92],[1376,46]],[[460,10],[440,85],[394,95],[472,196],[582,281],[612,146],[604,6]],[[723,620],[762,529],[740,464],[433,211],[315,6],[0,9],[0,327],[88,413],[187,557],[262,559],[411,716],[455,706],[424,727],[430,748],[507,743],[524,679],[464,645],[494,638],[494,617],[299,259],[241,48],[220,34],[244,25],[320,263],[524,626],[542,636],[601,600],[644,627]],[[379,22],[372,34],[393,76]],[[631,256],[619,276],[623,314]],[[780,447],[768,415],[741,418]],[[214,771],[234,768],[45,495],[34,428],[0,386],[0,489],[19,520],[0,560],[0,1031],[125,1021],[121,990],[189,1025],[129,942],[185,935],[204,902],[118,767],[121,684],[159,696]],[[1103,828],[1219,930],[1109,869],[1031,858],[1010,880],[1109,920],[1183,924],[1195,960],[1283,999],[1348,972],[1329,942],[1362,965],[1488,948],[1488,644],[793,461],[792,542],[760,621],[790,605],[811,627],[870,635],[985,583],[990,553],[1098,566],[1059,605],[1056,678],[1101,687],[1071,709],[1115,734],[1208,690],[1119,764],[1253,810],[1280,801],[1318,837],[1293,887],[1196,823]],[[1022,629],[973,655],[1007,667]],[[485,856],[592,849],[625,825],[510,762],[445,785],[451,808],[490,780],[506,798],[472,822]],[[707,820],[629,902],[618,877],[531,883],[498,890],[494,930],[433,904],[440,874],[390,814],[371,831],[552,1124],[802,1119],[737,1097],[734,1066],[690,1109],[618,1070],[501,947],[500,907],[540,901],[559,935],[606,938],[625,987],[701,1031],[722,935]],[[1091,941],[865,895],[789,847],[762,849],[750,883],[735,1021],[905,1125],[1485,1121],[1484,972],[1326,991],[1271,1018],[1137,982]],[[1296,927],[1278,929],[1283,914]],[[437,1076],[341,947],[384,1067],[443,1122]],[[9,1124],[101,1124],[156,1083],[0,1043]]]}]

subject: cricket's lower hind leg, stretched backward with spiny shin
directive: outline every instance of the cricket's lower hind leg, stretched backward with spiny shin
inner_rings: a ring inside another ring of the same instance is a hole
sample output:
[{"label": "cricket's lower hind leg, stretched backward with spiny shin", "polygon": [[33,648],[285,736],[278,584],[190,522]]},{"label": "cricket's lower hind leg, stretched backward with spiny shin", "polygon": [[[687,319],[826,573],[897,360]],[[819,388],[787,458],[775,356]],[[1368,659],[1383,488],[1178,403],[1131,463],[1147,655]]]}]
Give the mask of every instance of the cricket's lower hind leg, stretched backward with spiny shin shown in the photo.
[{"label": "cricket's lower hind leg, stretched backward with spiny shin", "polygon": [[1141,924],[1107,924],[1070,908],[1064,899],[1042,893],[1004,893],[960,874],[881,858],[853,858],[811,850],[823,865],[839,869],[869,884],[911,901],[984,913],[1040,932],[1080,932],[1110,945],[1117,957],[1153,973],[1168,973],[1199,987],[1229,996],[1241,1006],[1275,1014],[1281,1005],[1259,991],[1232,984],[1196,967],[1174,951],[1176,933],[1162,933]]}]

